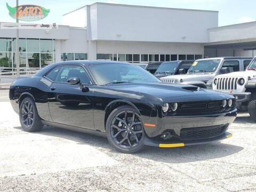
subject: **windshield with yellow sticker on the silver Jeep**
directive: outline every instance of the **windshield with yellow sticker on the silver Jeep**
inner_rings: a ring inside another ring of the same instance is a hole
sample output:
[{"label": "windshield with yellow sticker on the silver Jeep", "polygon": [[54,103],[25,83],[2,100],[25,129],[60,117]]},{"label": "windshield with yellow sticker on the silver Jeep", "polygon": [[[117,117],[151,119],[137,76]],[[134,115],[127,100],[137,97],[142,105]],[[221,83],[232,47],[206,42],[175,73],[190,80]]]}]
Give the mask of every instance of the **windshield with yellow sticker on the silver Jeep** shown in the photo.
[{"label": "windshield with yellow sticker on the silver Jeep", "polygon": [[193,65],[189,68],[188,73],[214,72],[217,70],[219,64],[220,59],[195,61]]}]

